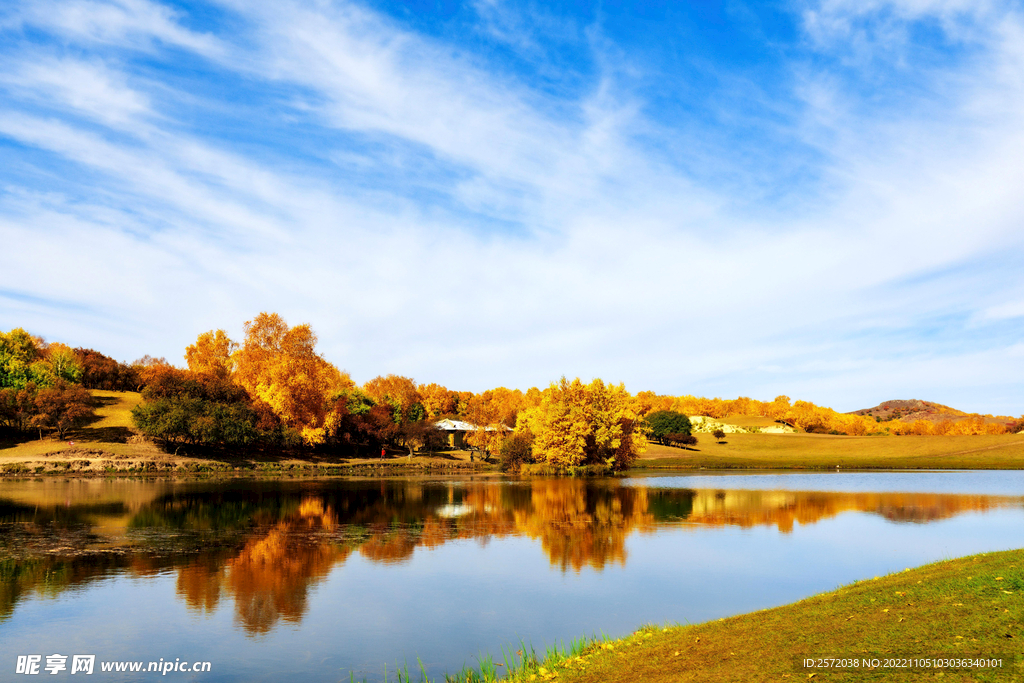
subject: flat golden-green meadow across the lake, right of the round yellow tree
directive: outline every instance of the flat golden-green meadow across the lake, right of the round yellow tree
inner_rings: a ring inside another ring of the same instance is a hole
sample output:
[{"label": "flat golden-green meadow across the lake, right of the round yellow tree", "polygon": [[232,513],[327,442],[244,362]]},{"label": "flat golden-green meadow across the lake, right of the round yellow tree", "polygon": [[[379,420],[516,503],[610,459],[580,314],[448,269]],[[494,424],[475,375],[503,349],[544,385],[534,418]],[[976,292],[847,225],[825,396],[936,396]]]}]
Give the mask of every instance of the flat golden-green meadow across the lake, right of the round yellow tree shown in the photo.
[{"label": "flat golden-green meadow across the lake, right of the round yellow tree", "polygon": [[710,469],[1022,469],[1024,436],[698,434],[693,450],[651,444],[635,467]]}]

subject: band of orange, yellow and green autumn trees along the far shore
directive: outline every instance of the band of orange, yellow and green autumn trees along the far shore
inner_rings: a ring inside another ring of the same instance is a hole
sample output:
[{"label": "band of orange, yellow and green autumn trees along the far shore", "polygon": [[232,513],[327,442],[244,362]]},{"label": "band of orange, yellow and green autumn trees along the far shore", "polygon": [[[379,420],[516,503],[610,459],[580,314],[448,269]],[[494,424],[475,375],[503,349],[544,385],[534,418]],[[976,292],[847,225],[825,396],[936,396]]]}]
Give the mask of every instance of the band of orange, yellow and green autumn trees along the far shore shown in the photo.
[{"label": "band of orange, yellow and green autumn trees along the far shore", "polygon": [[274,447],[343,455],[381,449],[436,450],[446,441],[441,418],[477,429],[466,441],[503,467],[558,470],[629,467],[649,439],[676,445],[695,437],[687,416],[760,415],[808,432],[835,434],[1005,433],[1024,418],[991,423],[981,416],[932,425],[880,423],[808,401],[761,401],[629,393],[602,380],[562,378],[545,389],[498,387],[456,391],[382,375],[361,386],[316,351],[308,325],[290,327],[263,312],[244,325],[241,342],[205,332],[184,353],[185,368],[143,356],[117,361],[84,348],[46,343],[24,330],[0,333],[0,426],[51,431],[62,438],[90,412],[87,389],[140,391],[132,412],[143,434],[169,449]]}]

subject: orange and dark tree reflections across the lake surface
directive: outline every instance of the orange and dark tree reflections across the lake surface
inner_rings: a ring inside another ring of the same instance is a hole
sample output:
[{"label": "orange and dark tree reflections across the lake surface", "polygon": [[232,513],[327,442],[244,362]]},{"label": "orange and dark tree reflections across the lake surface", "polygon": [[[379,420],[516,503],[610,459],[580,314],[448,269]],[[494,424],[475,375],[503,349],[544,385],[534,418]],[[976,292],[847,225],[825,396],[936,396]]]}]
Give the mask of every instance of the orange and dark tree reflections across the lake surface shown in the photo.
[{"label": "orange and dark tree reflections across the lake surface", "polygon": [[194,612],[225,601],[250,635],[298,624],[313,587],[353,553],[403,563],[419,549],[518,536],[561,571],[625,566],[627,539],[675,527],[782,533],[845,512],[927,523],[1022,506],[1007,496],[687,489],[617,480],[6,481],[0,620],[29,595],[100,577],[174,572]]}]

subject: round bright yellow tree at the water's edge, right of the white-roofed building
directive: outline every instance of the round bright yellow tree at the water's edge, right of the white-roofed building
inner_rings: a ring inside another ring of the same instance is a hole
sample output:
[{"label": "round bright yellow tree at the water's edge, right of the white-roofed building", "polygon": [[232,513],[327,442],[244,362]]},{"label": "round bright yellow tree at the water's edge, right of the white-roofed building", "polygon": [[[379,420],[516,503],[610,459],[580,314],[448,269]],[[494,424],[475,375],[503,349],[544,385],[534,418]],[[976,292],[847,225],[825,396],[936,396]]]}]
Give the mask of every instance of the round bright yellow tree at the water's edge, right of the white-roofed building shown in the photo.
[{"label": "round bright yellow tree at the water's edge, right of the white-roofed building", "polygon": [[516,431],[534,437],[534,457],[557,469],[580,465],[628,468],[646,450],[643,404],[622,384],[594,380],[585,385],[564,377],[545,392],[541,404],[520,414]]}]

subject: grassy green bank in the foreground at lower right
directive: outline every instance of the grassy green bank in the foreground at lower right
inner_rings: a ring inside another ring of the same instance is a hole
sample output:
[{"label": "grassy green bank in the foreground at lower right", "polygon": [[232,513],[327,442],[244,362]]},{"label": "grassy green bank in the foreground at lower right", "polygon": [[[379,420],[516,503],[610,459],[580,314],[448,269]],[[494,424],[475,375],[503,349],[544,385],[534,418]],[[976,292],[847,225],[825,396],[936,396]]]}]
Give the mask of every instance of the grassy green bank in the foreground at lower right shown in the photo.
[{"label": "grassy green bank in the foreground at lower right", "polygon": [[[975,555],[858,582],[791,605],[695,626],[644,628],[520,663],[509,680],[1024,680],[1024,550]],[[574,652],[571,650],[575,650]],[[1001,670],[805,669],[804,658],[1001,657]],[[462,672],[480,681],[508,668]],[[523,666],[524,664],[524,666]]]}]

